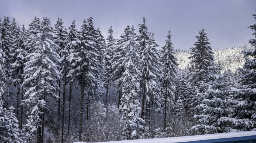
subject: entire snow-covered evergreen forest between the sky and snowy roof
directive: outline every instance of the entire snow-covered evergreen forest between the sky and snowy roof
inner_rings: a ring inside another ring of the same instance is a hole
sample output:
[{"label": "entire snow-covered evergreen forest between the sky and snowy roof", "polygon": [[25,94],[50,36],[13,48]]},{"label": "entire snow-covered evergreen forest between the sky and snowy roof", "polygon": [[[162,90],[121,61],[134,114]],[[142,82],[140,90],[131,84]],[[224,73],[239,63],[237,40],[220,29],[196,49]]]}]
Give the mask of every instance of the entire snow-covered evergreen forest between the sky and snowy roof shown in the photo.
[{"label": "entire snow-covered evergreen forest between the sky and snowy roof", "polygon": [[213,50],[202,28],[184,51],[171,30],[159,47],[145,17],[119,39],[112,27],[104,38],[92,17],[66,28],[35,17],[27,30],[0,21],[1,143],[256,130],[255,23],[251,46]]}]

